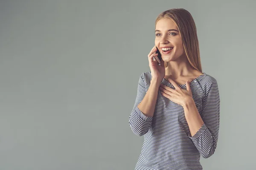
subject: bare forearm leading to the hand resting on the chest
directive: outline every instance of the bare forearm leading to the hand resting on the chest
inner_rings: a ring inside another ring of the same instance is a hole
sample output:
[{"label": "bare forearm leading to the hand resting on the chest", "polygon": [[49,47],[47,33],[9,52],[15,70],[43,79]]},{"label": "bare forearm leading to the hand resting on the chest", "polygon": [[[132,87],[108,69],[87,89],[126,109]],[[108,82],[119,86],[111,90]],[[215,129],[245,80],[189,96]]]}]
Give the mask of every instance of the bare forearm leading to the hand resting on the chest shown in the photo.
[{"label": "bare forearm leading to the hand resting on the chest", "polygon": [[184,113],[186,117],[186,121],[189,126],[189,131],[191,136],[194,136],[195,133],[204,125],[204,121],[202,120],[200,114],[198,113],[198,109],[195,105],[193,98],[187,100],[184,105]]}]

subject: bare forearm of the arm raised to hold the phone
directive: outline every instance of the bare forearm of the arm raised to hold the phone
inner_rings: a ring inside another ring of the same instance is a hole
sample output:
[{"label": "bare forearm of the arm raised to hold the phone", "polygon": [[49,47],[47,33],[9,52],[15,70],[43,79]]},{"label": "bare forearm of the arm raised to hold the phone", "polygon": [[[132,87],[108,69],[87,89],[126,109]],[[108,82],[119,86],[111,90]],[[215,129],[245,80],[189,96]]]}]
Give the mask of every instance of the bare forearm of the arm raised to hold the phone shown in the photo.
[{"label": "bare forearm of the arm raised to hold the phone", "polygon": [[145,94],[144,99],[138,105],[138,108],[145,116],[153,117],[154,115],[159,86],[160,86],[159,80],[151,79],[148,91]]}]

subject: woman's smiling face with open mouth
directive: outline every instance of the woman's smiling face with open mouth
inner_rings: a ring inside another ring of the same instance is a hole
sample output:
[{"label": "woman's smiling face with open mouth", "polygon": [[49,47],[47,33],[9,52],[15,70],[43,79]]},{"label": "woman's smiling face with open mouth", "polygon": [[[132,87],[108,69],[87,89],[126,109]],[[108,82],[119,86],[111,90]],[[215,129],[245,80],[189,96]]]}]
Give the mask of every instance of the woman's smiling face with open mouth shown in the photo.
[{"label": "woman's smiling face with open mouth", "polygon": [[157,22],[155,45],[165,62],[174,61],[184,54],[180,33],[171,19],[163,18]]}]

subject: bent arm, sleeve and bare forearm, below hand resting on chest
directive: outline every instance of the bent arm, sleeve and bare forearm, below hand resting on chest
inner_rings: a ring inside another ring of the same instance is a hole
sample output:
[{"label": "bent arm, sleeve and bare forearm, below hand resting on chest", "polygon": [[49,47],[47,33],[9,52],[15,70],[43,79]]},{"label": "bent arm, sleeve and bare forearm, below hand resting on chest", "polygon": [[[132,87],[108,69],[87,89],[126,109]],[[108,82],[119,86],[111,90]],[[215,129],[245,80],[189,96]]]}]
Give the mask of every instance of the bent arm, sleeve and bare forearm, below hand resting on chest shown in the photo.
[{"label": "bent arm, sleeve and bare forearm, below hand resting on chest", "polygon": [[189,138],[192,139],[203,158],[209,158],[216,149],[220,122],[220,98],[217,81],[214,79],[207,87],[201,116],[192,100],[186,102],[184,112],[190,130]]}]

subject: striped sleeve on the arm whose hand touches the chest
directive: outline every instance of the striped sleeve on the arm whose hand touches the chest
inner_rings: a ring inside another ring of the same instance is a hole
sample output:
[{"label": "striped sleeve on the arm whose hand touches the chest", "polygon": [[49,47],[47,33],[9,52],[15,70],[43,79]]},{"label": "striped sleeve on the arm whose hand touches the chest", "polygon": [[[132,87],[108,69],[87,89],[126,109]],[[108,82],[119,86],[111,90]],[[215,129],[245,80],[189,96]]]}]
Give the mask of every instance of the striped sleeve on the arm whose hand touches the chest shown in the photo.
[{"label": "striped sleeve on the arm whose hand touches the chest", "polygon": [[216,79],[206,85],[201,118],[204,124],[198,132],[189,138],[195,144],[203,158],[209,158],[215,152],[220,122],[220,97]]}]

